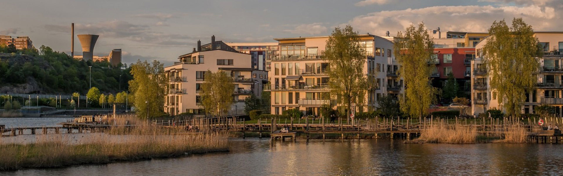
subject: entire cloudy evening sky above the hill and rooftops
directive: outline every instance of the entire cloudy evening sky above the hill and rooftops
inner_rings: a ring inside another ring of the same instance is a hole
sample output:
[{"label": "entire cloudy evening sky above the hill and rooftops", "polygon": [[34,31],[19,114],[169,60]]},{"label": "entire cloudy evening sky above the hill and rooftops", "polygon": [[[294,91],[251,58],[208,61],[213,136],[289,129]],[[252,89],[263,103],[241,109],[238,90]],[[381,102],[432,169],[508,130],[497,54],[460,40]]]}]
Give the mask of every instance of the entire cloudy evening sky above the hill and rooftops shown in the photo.
[{"label": "entire cloudy evening sky above the hill and rooftops", "polygon": [[[123,63],[164,65],[211,36],[224,42],[327,36],[350,24],[360,33],[395,35],[412,24],[442,31],[487,32],[495,20],[522,17],[535,31],[563,30],[563,0],[18,0],[2,2],[0,34],[70,54],[75,34],[97,34],[94,54],[123,50]],[[74,52],[82,54],[78,37]]]}]

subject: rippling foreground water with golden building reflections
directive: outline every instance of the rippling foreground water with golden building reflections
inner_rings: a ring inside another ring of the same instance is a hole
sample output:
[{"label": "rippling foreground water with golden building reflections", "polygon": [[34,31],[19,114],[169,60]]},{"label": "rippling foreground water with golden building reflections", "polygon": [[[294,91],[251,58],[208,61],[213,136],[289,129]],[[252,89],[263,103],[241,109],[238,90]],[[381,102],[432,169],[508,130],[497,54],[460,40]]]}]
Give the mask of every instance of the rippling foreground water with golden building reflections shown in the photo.
[{"label": "rippling foreground water with golden building reflections", "polygon": [[[231,139],[231,151],[6,175],[562,175],[560,144]],[[0,173],[0,175],[5,175]]]}]

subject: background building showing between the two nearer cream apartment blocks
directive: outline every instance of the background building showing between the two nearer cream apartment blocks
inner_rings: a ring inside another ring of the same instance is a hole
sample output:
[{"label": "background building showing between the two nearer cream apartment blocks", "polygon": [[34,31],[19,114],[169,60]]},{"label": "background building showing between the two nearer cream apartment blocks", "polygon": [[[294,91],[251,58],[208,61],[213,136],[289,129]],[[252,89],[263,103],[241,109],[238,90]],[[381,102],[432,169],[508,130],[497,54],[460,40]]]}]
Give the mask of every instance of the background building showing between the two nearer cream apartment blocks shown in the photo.
[{"label": "background building showing between the two nearer cream apartment blocks", "polygon": [[252,57],[252,68],[261,71],[270,71],[270,63],[274,56],[278,55],[278,42],[261,43],[227,43],[236,51],[250,54]]}]

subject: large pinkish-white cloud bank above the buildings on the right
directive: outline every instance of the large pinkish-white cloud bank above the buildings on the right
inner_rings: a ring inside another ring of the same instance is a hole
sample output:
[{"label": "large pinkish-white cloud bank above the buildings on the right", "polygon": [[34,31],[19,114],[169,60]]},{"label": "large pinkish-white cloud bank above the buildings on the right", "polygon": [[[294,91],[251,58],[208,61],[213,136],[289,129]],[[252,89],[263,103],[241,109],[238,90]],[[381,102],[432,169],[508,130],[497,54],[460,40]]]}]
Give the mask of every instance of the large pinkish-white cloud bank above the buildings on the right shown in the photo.
[{"label": "large pinkish-white cloud bank above the buildings on the right", "polygon": [[494,20],[522,17],[534,30],[561,30],[560,8],[530,6],[434,6],[426,8],[373,12],[348,21],[355,30],[383,36],[403,31],[423,21],[428,28],[487,32]]}]

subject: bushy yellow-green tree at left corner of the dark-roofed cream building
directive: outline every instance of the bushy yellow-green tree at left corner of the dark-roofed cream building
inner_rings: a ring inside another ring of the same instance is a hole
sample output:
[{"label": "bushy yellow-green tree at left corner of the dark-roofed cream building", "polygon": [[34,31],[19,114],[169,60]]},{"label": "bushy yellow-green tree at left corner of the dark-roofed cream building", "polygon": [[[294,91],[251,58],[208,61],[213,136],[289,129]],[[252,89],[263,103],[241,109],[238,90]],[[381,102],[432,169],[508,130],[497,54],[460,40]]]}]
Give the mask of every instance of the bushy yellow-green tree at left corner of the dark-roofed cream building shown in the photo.
[{"label": "bushy yellow-green tree at left corner of the dark-roofed cream building", "polygon": [[164,73],[164,65],[158,60],[152,64],[148,61],[131,65],[133,79],[129,81],[131,103],[137,109],[137,117],[155,117],[164,110],[164,96],[168,77]]}]

